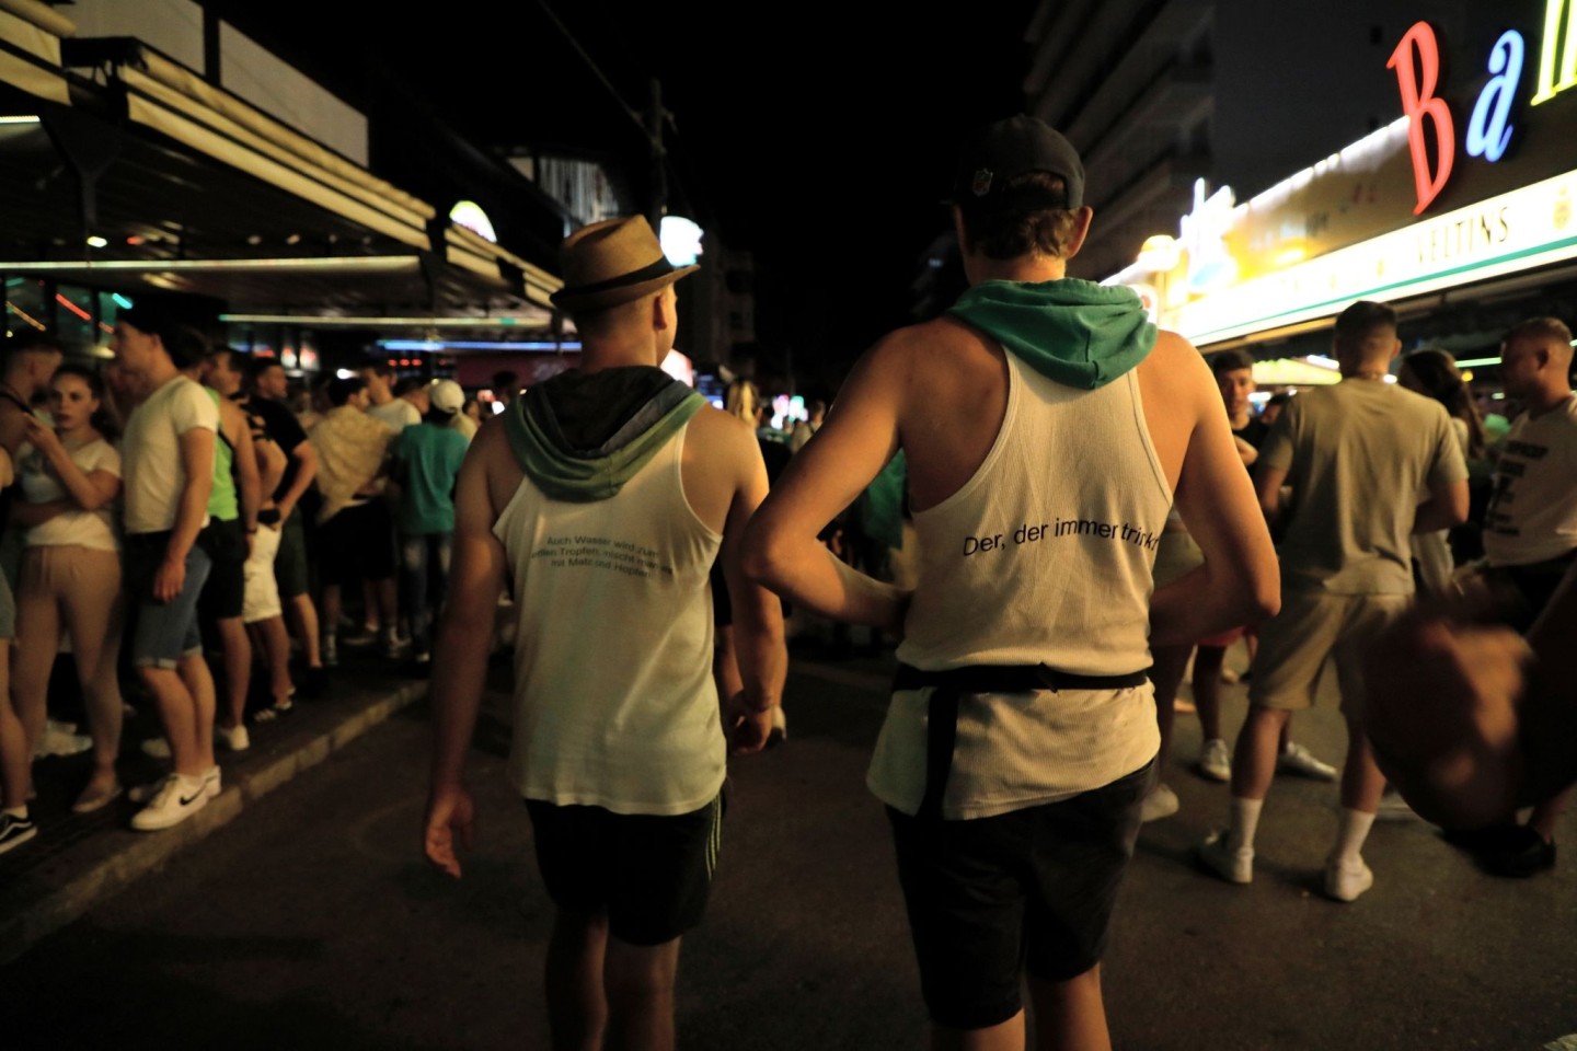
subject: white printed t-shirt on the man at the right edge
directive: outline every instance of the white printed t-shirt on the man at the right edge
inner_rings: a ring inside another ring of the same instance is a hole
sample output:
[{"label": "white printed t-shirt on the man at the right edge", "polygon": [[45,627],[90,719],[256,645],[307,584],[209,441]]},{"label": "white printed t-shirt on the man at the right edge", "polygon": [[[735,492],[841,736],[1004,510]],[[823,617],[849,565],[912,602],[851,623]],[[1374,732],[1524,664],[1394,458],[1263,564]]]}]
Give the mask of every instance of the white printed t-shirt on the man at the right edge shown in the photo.
[{"label": "white printed t-shirt on the man at the right edge", "polygon": [[1511,425],[1484,515],[1490,566],[1528,566],[1577,548],[1577,396]]}]

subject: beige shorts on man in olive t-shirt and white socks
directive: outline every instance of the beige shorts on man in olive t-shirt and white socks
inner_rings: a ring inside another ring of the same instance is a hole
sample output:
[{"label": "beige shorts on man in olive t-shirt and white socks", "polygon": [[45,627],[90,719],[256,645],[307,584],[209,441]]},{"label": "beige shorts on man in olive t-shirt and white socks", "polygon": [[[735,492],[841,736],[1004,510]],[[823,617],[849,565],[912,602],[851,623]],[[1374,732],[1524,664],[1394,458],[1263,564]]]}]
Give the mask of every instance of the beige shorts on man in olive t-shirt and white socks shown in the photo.
[{"label": "beige shorts on man in olive t-shirt and white socks", "polygon": [[1325,659],[1331,657],[1342,712],[1361,720],[1364,654],[1380,630],[1411,603],[1413,596],[1402,594],[1282,591],[1281,613],[1260,626],[1249,703],[1288,712],[1310,707]]}]

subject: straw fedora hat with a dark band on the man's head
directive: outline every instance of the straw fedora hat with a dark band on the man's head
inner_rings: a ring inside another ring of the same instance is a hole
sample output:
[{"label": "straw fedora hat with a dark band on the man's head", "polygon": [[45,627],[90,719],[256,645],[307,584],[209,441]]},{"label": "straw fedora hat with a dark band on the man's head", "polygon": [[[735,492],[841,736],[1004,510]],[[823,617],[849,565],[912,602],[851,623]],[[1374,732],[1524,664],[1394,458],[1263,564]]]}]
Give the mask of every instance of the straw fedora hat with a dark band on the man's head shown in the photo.
[{"label": "straw fedora hat with a dark band on the man's head", "polygon": [[700,269],[675,269],[645,216],[580,227],[558,247],[558,268],[565,285],[550,299],[571,314],[639,299]]}]

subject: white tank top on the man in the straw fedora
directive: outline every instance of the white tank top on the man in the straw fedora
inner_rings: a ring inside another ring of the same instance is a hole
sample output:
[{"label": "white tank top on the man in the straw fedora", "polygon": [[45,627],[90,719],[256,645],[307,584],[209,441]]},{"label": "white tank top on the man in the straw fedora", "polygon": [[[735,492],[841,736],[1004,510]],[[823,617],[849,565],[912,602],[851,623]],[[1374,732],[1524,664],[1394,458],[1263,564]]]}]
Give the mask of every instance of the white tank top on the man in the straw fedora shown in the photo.
[{"label": "white tank top on the man in the straw fedora", "polygon": [[524,479],[494,525],[520,615],[509,778],[528,799],[680,815],[722,788],[708,588],[722,537],[684,498],[686,432],[609,500]]}]

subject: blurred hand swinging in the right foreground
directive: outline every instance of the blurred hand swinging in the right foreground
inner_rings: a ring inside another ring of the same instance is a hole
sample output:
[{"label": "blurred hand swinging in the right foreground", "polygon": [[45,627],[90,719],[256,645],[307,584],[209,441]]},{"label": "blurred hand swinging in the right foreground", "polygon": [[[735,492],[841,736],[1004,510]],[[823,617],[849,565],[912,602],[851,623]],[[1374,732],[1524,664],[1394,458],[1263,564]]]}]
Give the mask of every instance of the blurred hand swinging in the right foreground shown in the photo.
[{"label": "blurred hand swinging in the right foreground", "polygon": [[1367,662],[1369,739],[1422,818],[1471,829],[1514,815],[1525,778],[1517,704],[1528,643],[1504,627],[1415,610]]}]

